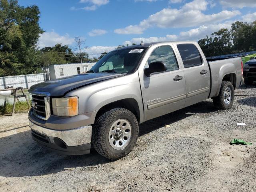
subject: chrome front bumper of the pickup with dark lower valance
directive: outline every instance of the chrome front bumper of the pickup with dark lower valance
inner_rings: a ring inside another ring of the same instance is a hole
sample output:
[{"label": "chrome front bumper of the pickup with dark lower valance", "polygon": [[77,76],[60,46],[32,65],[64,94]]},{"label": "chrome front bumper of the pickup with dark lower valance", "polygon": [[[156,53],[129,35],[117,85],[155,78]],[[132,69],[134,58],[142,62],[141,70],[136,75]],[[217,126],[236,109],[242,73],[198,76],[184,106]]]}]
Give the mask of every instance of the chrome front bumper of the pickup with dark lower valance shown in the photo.
[{"label": "chrome front bumper of the pickup with dark lower valance", "polygon": [[52,150],[68,155],[90,153],[92,126],[82,126],[70,130],[52,130],[34,124],[29,120],[32,138]]}]

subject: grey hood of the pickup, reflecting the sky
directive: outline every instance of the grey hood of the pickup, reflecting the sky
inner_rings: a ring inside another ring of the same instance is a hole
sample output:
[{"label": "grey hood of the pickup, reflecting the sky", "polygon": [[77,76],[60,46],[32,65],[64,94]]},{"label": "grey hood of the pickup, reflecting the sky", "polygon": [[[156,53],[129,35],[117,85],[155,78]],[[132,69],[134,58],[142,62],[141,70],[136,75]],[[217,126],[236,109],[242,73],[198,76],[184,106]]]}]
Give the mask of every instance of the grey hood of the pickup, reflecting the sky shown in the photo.
[{"label": "grey hood of the pickup, reflecting the sky", "polygon": [[51,96],[64,96],[67,92],[74,89],[124,75],[112,73],[79,74],[33,85],[28,92],[32,94],[36,92],[48,92]]}]

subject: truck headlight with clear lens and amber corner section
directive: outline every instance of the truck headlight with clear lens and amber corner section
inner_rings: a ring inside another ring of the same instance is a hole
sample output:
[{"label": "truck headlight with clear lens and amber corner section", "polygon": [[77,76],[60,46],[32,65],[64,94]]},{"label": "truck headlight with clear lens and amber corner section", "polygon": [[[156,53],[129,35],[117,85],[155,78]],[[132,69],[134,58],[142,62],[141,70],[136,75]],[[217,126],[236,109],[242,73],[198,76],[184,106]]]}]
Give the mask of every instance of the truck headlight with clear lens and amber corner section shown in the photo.
[{"label": "truck headlight with clear lens and amber corner section", "polygon": [[78,97],[52,98],[52,112],[56,116],[69,117],[78,114]]}]

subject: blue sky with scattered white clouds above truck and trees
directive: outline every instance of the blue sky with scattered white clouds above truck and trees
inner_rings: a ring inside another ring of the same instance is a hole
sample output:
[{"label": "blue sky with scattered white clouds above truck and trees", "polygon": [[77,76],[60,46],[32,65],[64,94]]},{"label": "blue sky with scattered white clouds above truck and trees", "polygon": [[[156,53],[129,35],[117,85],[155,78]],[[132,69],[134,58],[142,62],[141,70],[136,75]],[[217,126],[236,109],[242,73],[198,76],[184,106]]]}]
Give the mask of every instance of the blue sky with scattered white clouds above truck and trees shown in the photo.
[{"label": "blue sky with scattered white clouds above truck and trees", "polygon": [[86,39],[90,57],[119,44],[198,40],[236,20],[256,20],[256,0],[19,0],[36,4],[46,32],[38,46],[74,47]]}]

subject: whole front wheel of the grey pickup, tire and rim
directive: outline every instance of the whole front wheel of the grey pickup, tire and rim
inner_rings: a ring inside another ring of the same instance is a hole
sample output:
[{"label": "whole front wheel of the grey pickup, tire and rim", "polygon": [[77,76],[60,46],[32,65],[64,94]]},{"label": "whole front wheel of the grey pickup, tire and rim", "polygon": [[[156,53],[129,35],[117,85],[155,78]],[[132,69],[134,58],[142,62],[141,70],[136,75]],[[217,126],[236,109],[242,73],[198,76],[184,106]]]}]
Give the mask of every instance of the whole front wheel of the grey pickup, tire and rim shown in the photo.
[{"label": "whole front wheel of the grey pickup, tire and rim", "polygon": [[111,160],[120,159],[135,146],[138,132],[138,121],[134,114],[124,108],[114,108],[96,120],[92,144],[102,156]]}]

